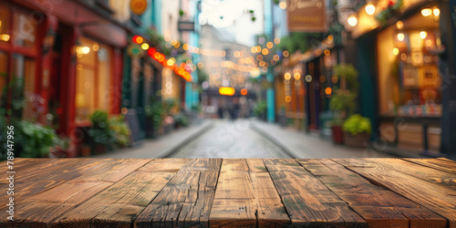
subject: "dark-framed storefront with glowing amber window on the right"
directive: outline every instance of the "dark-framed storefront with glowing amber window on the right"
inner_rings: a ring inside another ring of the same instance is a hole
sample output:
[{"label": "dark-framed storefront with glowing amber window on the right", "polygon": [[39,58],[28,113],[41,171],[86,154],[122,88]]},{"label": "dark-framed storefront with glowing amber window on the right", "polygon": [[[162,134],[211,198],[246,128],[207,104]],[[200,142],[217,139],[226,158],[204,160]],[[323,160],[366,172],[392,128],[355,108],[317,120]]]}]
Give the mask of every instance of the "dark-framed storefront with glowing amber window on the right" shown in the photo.
[{"label": "dark-framed storefront with glowing amber window on the right", "polygon": [[[358,36],[359,44],[361,110],[369,112],[366,108],[371,103],[378,104],[372,109],[376,110],[373,122],[378,123],[374,127],[378,128],[381,144],[438,155],[444,87],[439,67],[448,61],[441,58],[445,52],[442,39],[446,37],[442,37],[440,21],[447,18],[440,17],[439,1],[399,3],[378,1],[377,9],[394,10],[397,6],[397,10],[390,17],[382,17],[380,11],[373,21],[377,26],[365,25],[371,21],[365,7],[358,12],[359,25],[353,34]],[[375,56],[363,50],[368,47],[375,47]],[[374,97],[372,93],[377,94]]]}]

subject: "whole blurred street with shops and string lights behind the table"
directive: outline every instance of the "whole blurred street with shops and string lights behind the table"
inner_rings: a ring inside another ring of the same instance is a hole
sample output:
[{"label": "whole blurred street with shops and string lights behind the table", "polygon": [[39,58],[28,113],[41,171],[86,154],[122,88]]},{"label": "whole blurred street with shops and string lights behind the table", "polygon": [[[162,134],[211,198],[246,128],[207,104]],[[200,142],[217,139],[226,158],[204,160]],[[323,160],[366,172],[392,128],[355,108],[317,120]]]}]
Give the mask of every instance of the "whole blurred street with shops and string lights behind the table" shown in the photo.
[{"label": "whole blurred street with shops and string lights behind the table", "polygon": [[455,159],[455,41],[446,0],[2,1],[2,159]]}]

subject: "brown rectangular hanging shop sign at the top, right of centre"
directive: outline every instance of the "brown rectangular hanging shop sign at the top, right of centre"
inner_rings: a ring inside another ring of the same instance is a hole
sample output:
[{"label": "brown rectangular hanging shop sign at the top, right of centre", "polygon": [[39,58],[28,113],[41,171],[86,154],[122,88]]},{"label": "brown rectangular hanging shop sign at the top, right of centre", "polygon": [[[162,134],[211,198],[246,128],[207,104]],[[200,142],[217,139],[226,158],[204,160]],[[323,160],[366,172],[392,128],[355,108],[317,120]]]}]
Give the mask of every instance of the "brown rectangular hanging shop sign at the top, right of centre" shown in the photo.
[{"label": "brown rectangular hanging shop sign at the top, right of centre", "polygon": [[291,32],[326,32],[325,0],[288,0],[287,20]]}]

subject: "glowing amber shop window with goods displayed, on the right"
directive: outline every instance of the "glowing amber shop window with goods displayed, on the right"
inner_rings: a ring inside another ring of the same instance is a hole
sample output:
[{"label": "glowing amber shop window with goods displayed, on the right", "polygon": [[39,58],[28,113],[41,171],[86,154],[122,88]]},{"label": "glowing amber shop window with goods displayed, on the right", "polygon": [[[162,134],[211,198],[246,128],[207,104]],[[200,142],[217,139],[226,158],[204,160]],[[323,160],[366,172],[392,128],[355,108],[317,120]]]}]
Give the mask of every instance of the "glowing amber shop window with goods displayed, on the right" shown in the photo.
[{"label": "glowing amber shop window with goods displayed, on the right", "polygon": [[377,46],[380,114],[440,116],[438,16],[399,21],[378,34]]}]

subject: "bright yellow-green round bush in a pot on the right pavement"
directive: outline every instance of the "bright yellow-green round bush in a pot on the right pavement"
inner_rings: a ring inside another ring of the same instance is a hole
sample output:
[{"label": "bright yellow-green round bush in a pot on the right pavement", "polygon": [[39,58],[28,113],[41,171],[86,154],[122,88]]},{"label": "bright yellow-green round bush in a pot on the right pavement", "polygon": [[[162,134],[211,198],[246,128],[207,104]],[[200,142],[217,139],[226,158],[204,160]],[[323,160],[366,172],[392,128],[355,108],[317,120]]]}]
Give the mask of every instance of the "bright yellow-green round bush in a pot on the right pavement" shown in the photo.
[{"label": "bright yellow-green round bush in a pot on the right pavement", "polygon": [[372,132],[370,120],[361,117],[359,114],[350,116],[342,128],[344,130],[344,143],[350,147],[363,147]]}]

